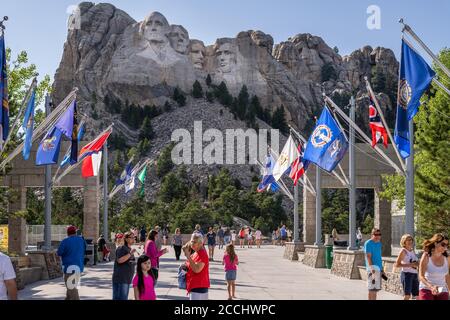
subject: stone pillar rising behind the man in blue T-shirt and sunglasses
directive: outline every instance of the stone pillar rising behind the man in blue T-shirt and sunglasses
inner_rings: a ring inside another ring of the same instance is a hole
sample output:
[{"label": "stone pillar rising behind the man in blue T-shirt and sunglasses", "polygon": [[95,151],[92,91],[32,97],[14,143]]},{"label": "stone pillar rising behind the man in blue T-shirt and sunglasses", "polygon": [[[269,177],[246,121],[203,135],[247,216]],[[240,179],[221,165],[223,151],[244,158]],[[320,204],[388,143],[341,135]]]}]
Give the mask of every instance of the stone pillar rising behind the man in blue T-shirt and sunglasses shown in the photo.
[{"label": "stone pillar rising behind the man in blue T-shirt and sunglasses", "polygon": [[374,189],[374,211],[374,227],[379,228],[382,234],[382,255],[383,257],[390,257],[392,242],[391,202],[380,198],[379,188]]}]

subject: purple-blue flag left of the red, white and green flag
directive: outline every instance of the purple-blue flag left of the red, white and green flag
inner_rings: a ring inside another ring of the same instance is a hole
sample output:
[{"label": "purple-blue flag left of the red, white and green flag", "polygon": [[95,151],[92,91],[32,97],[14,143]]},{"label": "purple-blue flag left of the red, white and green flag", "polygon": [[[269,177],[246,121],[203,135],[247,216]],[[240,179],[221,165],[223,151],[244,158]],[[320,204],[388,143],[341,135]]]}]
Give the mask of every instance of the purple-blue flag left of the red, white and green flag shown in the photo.
[{"label": "purple-blue flag left of the red, white and green flag", "polygon": [[[36,154],[36,165],[42,166],[58,163],[59,150],[61,148],[61,138],[63,135],[68,139],[72,140],[72,147],[73,147],[74,129],[76,130],[76,123],[74,125],[75,115],[76,115],[76,102],[74,101],[69,106],[67,111],[61,116],[61,118],[59,118],[55,126],[47,132],[45,138],[41,141],[41,144],[39,145]],[[71,150],[71,160],[72,160],[72,150]]]}]

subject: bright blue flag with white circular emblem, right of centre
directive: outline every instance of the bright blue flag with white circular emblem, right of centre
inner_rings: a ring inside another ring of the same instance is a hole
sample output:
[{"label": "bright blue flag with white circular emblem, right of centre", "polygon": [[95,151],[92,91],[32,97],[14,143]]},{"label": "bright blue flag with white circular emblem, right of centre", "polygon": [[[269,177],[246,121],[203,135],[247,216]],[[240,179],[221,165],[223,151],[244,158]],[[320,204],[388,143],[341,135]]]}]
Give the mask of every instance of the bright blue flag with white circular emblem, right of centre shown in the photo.
[{"label": "bright blue flag with white circular emblem, right of centre", "polygon": [[327,107],[317,121],[306,145],[303,160],[315,163],[331,172],[342,160],[348,149],[348,141]]}]

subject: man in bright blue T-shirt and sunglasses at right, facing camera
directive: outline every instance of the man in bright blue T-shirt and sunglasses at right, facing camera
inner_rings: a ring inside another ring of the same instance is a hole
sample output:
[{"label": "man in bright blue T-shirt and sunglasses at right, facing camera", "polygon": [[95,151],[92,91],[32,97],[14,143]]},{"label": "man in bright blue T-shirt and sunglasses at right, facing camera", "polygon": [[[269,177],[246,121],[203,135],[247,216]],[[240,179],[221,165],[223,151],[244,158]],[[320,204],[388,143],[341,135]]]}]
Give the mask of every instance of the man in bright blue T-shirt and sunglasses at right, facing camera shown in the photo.
[{"label": "man in bright blue T-shirt and sunglasses at right, facing camera", "polygon": [[381,259],[380,229],[372,229],[371,238],[364,243],[364,253],[366,259],[369,300],[376,300],[377,292],[381,290],[381,277],[384,275],[383,261]]}]

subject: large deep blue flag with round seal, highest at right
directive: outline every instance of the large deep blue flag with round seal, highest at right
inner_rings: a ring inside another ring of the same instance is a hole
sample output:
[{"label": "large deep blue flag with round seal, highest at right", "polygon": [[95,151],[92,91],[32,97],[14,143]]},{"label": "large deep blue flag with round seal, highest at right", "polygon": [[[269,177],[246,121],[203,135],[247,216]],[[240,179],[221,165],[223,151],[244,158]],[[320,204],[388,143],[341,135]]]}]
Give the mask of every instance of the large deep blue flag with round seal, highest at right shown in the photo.
[{"label": "large deep blue flag with round seal, highest at right", "polygon": [[419,111],[420,98],[435,75],[425,60],[402,40],[394,142],[404,159],[410,154],[409,121]]}]

